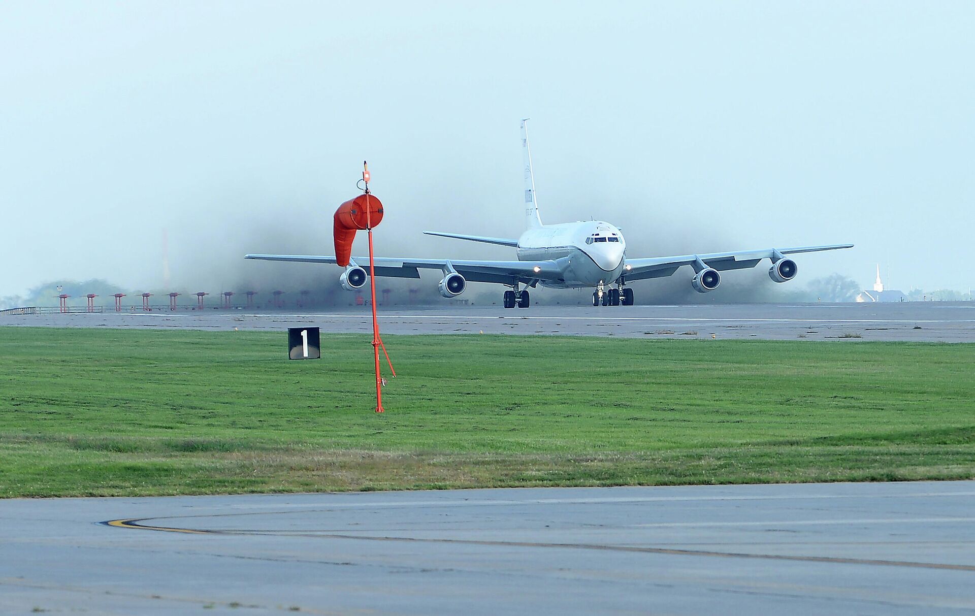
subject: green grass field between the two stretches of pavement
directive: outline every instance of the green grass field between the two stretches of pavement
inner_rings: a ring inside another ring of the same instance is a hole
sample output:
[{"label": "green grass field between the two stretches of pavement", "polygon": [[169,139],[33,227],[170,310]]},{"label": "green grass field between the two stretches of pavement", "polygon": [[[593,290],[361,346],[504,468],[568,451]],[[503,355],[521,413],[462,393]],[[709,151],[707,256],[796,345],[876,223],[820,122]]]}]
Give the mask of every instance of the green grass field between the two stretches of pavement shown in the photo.
[{"label": "green grass field between the two stretches of pavement", "polygon": [[0,496],[975,478],[975,345],[0,328]]}]

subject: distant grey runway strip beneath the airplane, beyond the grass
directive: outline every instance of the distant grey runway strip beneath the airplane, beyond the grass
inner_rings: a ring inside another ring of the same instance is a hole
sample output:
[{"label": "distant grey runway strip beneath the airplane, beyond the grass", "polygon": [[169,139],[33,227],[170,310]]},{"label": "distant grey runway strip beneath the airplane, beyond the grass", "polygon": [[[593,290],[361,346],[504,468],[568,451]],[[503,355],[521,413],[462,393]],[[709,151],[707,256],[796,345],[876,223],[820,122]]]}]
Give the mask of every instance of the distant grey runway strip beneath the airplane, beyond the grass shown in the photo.
[{"label": "distant grey runway strip beneath the airplane, beyond the grass", "polygon": [[[975,303],[723,304],[700,306],[381,307],[384,333],[514,333],[618,337],[975,342]],[[334,312],[168,310],[0,315],[0,326],[283,329],[369,332],[368,307]]]}]

